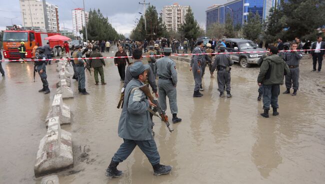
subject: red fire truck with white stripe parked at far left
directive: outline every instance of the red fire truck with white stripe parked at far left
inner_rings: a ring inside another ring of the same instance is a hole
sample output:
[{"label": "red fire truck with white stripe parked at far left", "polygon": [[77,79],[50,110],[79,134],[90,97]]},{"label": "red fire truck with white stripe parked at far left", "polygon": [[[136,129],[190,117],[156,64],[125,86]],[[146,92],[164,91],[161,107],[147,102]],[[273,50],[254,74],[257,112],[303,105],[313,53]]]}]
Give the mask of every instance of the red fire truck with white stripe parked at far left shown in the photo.
[{"label": "red fire truck with white stripe parked at far left", "polygon": [[19,59],[19,51],[18,47],[20,46],[20,42],[23,41],[26,47],[25,58],[33,58],[34,53],[32,53],[32,49],[35,45],[44,46],[47,42],[49,42],[49,46],[52,50],[52,55],[59,56],[62,54],[63,49],[63,41],[52,41],[46,40],[44,38],[48,36],[52,36],[55,34],[54,32],[46,32],[46,30],[42,30],[39,27],[23,27],[19,26],[7,26],[6,30],[3,32],[3,57],[7,59]]}]

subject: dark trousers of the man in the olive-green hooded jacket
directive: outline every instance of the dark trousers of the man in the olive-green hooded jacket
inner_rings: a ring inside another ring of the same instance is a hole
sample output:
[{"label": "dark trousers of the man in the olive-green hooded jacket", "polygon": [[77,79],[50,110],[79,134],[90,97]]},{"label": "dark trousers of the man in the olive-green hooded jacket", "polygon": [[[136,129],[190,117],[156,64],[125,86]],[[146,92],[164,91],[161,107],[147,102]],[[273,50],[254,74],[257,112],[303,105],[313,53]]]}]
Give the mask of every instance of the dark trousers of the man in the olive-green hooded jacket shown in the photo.
[{"label": "dark trousers of the man in the olive-green hooded jacket", "polygon": [[264,85],[262,88],[263,93],[263,109],[269,109],[271,104],[272,108],[278,108],[277,96],[280,93],[280,85]]}]

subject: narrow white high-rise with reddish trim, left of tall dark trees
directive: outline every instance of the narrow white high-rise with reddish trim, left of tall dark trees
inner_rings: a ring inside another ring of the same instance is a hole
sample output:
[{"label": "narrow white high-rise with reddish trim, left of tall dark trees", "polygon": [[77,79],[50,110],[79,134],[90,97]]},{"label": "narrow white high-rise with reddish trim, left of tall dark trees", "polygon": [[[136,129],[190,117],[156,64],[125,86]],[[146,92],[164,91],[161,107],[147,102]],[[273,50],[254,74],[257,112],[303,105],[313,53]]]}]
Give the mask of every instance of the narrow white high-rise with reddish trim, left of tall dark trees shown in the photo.
[{"label": "narrow white high-rise with reddish trim, left of tall dark trees", "polygon": [[72,29],[75,36],[79,35],[79,31],[88,22],[88,15],[89,13],[83,11],[83,8],[72,9]]}]

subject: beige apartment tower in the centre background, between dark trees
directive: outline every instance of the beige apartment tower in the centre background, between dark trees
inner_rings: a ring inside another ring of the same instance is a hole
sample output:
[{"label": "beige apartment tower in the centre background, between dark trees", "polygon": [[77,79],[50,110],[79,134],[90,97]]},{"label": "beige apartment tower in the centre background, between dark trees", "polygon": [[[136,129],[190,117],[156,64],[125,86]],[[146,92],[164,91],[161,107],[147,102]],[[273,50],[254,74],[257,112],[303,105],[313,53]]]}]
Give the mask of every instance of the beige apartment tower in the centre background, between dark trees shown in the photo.
[{"label": "beige apartment tower in the centre background, between dark trees", "polygon": [[180,25],[185,22],[185,14],[188,8],[189,6],[181,6],[178,3],[163,6],[160,15],[168,31],[177,31],[179,29]]}]

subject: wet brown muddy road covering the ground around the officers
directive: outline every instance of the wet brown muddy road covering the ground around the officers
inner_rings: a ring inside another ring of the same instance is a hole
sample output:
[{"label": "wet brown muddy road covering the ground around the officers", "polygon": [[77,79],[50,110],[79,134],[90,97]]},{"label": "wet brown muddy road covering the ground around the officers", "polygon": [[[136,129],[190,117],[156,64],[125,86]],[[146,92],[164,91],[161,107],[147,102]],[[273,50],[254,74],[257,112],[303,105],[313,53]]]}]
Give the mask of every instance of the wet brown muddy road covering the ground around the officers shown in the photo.
[{"label": "wet brown muddy road covering the ground around the officers", "polygon": [[[113,47],[116,51],[116,47]],[[113,52],[104,55],[114,55]],[[122,139],[117,136],[121,109],[116,105],[122,83],[112,59],[105,59],[107,85],[94,85],[86,73],[90,95],[64,99],[71,108],[74,167],[58,173],[65,183],[324,183],[325,181],[325,72],[310,72],[311,60],[302,60],[297,96],[279,95],[279,115],[263,118],[257,101],[259,68],[231,70],[232,98],[219,98],[216,78],[206,73],[201,98],[193,98],[189,64],[177,61],[178,116],[172,133],[154,117],[155,141],[162,164],[170,174],[154,176],[139,148],[118,168],[119,178],[104,175]],[[31,62],[2,64],[0,78],[0,183],[39,183],[33,166],[39,140],[45,135],[45,117],[58,81],[56,64],[47,66],[51,93],[38,93]],[[281,92],[284,91],[281,86]],[[170,110],[167,107],[169,116]]]}]

